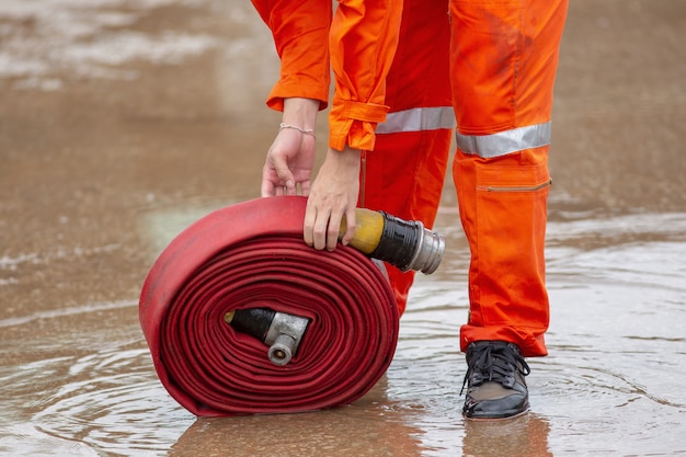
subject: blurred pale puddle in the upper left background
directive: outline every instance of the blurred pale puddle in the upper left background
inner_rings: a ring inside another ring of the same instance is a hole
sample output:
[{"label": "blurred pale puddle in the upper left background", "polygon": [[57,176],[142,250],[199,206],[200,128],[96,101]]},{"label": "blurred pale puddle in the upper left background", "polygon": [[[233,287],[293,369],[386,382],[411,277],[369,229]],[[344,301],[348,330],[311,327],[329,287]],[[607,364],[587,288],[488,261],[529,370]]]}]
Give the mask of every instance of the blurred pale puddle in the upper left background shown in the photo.
[{"label": "blurred pale puddle in the upper left background", "polygon": [[[0,80],[13,80],[14,89],[46,92],[62,90],[75,78],[132,81],[141,76],[132,62],[176,65],[217,49],[244,58],[264,54],[255,53],[255,42],[263,47],[270,39],[260,33],[254,34],[256,39],[244,34],[226,39],[211,31],[174,31],[169,25],[136,30],[151,10],[164,8],[215,11],[226,19],[225,27],[239,31],[263,26],[250,4],[227,7],[208,0],[4,0],[0,5]],[[270,53],[265,57],[274,58]],[[230,82],[244,81],[259,77],[260,70],[245,61],[225,77]]]}]

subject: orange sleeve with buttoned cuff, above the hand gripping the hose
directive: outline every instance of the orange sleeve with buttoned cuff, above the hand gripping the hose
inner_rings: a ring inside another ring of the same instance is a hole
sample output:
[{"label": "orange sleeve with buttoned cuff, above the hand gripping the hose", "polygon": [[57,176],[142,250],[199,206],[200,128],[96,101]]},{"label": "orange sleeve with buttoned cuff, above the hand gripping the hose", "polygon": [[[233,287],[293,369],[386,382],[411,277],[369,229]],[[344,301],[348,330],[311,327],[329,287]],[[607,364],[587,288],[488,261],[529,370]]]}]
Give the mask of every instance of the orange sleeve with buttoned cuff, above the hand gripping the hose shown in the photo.
[{"label": "orange sleeve with buttoned cuff, above the hand gripping the hose", "polygon": [[402,0],[339,0],[329,48],[335,92],[329,146],[374,149],[376,125],[386,119],[386,76],[398,46]]}]

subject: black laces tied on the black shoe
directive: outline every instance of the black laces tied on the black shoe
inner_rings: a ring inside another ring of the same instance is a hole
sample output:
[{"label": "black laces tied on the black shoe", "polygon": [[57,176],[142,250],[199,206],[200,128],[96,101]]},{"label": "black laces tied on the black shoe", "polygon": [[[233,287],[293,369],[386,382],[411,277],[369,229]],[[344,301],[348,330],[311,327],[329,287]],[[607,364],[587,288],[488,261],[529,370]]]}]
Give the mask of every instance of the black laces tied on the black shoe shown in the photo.
[{"label": "black laces tied on the black shoe", "polygon": [[528,376],[531,369],[518,351],[511,347],[508,343],[479,344],[470,351],[469,369],[462,380],[460,396],[469,378],[471,378],[471,385],[475,386],[494,381],[503,387],[512,388],[515,384],[516,372],[522,376]]}]

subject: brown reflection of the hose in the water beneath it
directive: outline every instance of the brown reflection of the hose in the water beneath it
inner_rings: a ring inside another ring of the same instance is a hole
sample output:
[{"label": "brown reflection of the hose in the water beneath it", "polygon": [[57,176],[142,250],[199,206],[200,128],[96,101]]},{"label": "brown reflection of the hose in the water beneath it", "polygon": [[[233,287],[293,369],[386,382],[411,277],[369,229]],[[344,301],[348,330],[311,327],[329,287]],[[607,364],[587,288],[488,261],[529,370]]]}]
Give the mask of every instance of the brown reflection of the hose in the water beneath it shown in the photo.
[{"label": "brown reflection of the hose in the water beneath it", "polygon": [[[381,382],[382,385],[382,382]],[[422,431],[405,413],[390,410],[384,388],[355,405],[300,413],[198,419],[172,446],[170,456],[420,456]]]}]

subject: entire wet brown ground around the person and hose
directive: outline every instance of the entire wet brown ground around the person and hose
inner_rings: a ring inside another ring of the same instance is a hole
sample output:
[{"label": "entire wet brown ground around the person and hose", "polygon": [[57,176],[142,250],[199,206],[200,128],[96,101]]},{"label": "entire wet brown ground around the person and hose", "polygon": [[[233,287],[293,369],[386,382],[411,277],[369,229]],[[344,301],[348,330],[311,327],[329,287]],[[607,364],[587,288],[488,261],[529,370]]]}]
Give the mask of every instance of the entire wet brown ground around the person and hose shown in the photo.
[{"label": "entire wet brown ground around the person and hose", "polygon": [[684,0],[572,1],[528,415],[459,414],[468,253],[448,181],[449,252],[369,395],[207,420],[159,384],[137,300],[174,235],[259,194],[268,32],[240,1],[3,0],[0,455],[686,454],[685,38]]}]

